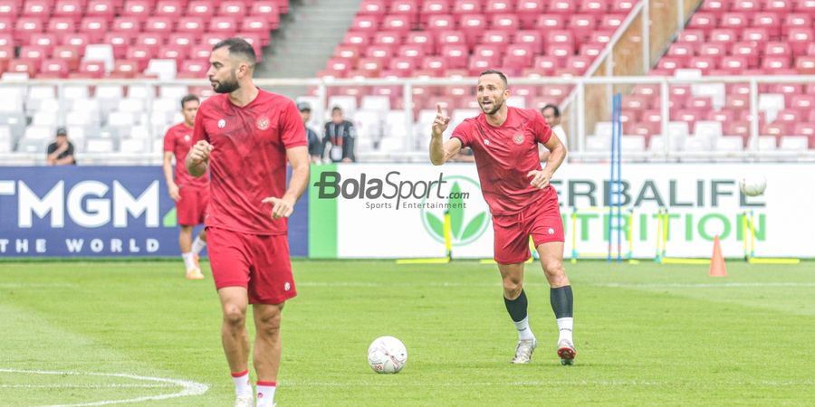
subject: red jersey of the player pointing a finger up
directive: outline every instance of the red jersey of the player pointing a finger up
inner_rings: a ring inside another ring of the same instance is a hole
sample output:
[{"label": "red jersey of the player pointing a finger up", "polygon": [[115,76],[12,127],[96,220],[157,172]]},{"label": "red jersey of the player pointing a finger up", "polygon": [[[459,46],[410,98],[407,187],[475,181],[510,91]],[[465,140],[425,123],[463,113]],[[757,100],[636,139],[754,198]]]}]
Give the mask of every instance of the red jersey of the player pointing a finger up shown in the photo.
[{"label": "red jersey of the player pointing a finger up", "polygon": [[543,189],[530,185],[532,170],[540,170],[538,143],[546,143],[551,128],[534,109],[507,108],[506,121],[500,127],[487,123],[484,112],[467,118],[453,130],[463,147],[473,149],[484,201],[490,213],[519,213],[538,200],[553,200],[558,195],[551,185]]}]

